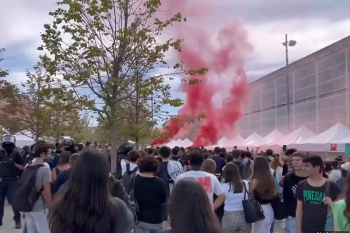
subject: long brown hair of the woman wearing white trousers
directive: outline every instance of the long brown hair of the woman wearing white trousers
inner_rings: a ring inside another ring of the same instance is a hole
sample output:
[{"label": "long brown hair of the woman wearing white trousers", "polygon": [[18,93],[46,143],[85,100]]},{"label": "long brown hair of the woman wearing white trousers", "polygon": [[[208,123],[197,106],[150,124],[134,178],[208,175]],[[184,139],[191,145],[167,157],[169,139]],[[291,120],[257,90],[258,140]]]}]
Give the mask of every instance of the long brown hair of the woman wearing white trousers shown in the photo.
[{"label": "long brown hair of the woman wearing white trousers", "polygon": [[276,193],[276,184],[273,180],[267,158],[257,156],[254,159],[252,180],[258,181],[256,191],[261,199],[272,199]]}]

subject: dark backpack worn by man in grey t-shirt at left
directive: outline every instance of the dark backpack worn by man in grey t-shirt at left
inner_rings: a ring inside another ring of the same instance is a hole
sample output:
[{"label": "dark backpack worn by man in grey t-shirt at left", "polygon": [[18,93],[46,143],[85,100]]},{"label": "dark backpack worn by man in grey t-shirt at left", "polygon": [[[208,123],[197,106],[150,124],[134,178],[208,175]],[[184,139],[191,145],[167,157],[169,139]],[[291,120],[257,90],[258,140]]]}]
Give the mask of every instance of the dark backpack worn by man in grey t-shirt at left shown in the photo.
[{"label": "dark backpack worn by man in grey t-shirt at left", "polygon": [[28,166],[20,179],[17,181],[13,196],[13,208],[20,212],[30,212],[33,210],[35,202],[39,199],[41,190],[36,189],[36,174],[43,164]]}]

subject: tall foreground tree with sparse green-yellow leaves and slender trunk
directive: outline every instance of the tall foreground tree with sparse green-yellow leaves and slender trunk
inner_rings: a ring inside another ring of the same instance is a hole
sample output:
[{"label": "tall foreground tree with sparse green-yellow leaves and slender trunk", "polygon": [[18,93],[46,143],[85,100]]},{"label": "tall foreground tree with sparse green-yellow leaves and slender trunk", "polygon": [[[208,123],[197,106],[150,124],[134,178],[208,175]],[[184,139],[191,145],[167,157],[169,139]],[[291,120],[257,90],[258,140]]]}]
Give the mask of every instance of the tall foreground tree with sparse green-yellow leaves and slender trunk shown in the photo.
[{"label": "tall foreground tree with sparse green-yellow leaves and slender trunk", "polygon": [[[62,8],[49,13],[54,21],[44,25],[43,45],[38,48],[50,55],[41,60],[51,75],[62,74],[71,83],[85,107],[107,119],[114,172],[117,124],[122,117],[117,107],[135,92],[126,89],[139,77],[132,67],[143,67],[143,73],[148,74],[142,77],[145,84],[163,77],[151,74],[156,66],[171,66],[174,72],[170,74],[198,74],[206,69],[184,71],[182,64],[168,64],[164,53],[169,49],[179,51],[181,39],[159,43],[157,37],[164,28],[184,19],[180,13],[165,21],[156,18],[160,0],[60,0],[57,4]],[[70,37],[69,43],[64,34]],[[79,87],[89,88],[93,95],[79,92]],[[105,107],[97,108],[96,101],[102,101]]]}]

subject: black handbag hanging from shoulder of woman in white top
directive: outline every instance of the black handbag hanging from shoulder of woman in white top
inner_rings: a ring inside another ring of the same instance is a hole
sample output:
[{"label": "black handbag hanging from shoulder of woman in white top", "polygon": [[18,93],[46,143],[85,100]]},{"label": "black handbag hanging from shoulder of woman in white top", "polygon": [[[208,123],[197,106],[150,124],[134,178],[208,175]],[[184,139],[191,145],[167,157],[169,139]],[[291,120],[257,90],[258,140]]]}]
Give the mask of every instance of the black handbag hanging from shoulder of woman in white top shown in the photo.
[{"label": "black handbag hanging from shoulder of woman in white top", "polygon": [[[257,221],[265,219],[264,211],[262,210],[260,203],[249,198],[249,193],[244,182],[243,187],[244,200],[242,201],[242,205],[246,223],[256,223]],[[246,194],[248,195],[248,199],[246,199]]]}]

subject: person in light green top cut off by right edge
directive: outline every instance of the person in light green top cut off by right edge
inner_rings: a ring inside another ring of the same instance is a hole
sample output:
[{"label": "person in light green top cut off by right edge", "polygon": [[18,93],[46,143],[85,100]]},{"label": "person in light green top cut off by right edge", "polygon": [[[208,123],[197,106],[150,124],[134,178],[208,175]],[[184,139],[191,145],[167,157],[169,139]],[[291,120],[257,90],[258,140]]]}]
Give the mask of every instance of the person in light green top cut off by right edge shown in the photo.
[{"label": "person in light green top cut off by right edge", "polygon": [[334,231],[350,232],[350,177],[346,176],[344,199],[333,203],[332,212],[334,219]]}]

